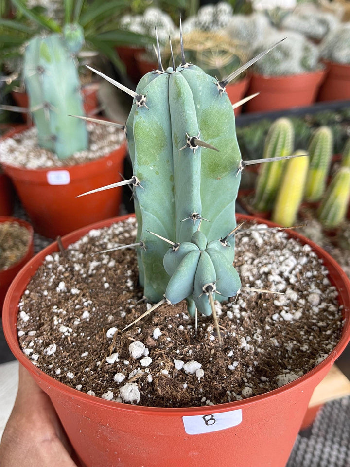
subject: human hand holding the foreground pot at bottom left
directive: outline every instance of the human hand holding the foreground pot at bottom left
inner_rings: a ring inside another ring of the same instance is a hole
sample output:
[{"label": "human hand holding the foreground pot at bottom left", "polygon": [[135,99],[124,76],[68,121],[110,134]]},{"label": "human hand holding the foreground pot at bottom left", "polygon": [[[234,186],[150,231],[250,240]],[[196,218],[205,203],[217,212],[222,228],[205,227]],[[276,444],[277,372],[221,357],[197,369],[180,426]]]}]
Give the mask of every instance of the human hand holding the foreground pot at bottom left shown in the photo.
[{"label": "human hand holding the foreground pot at bottom left", "polygon": [[19,365],[18,393],[0,444],[0,467],[77,467],[47,394]]}]

